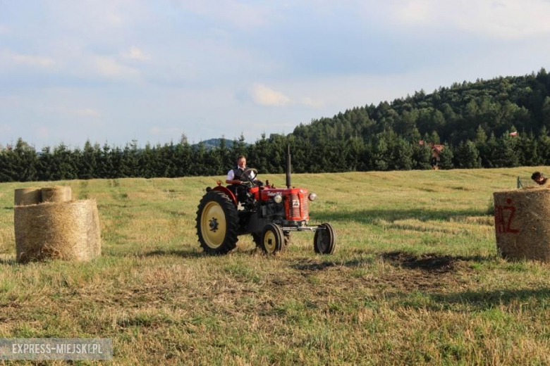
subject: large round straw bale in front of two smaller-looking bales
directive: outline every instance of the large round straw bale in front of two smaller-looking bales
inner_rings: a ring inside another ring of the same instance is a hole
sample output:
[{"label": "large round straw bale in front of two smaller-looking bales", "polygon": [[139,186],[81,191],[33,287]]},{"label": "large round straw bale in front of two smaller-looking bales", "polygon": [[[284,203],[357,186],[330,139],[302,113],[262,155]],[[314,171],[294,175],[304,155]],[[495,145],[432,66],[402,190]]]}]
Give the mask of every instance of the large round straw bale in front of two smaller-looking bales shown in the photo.
[{"label": "large round straw bale in front of two smaller-looking bales", "polygon": [[17,206],[14,220],[18,262],[87,261],[101,255],[95,200]]}]

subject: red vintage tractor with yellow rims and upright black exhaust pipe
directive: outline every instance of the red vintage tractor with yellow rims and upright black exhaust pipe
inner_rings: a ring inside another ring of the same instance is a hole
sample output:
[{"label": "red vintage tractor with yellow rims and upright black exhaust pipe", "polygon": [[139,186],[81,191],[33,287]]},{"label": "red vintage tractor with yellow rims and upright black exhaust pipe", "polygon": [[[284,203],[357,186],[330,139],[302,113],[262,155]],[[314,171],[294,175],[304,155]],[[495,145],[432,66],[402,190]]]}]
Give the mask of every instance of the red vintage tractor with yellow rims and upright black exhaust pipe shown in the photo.
[{"label": "red vintage tractor with yellow rims and upright black exhaust pipe", "polygon": [[238,236],[252,234],[256,246],[265,253],[282,251],[291,232],[315,232],[315,253],[331,254],[336,232],[330,224],[308,226],[308,200],[317,195],[307,189],[291,187],[291,154],[286,158],[286,189],[256,184],[257,170],[247,169],[245,187],[232,191],[218,185],[207,187],[197,210],[197,235],[200,246],[210,254],[225,254],[237,246]]}]

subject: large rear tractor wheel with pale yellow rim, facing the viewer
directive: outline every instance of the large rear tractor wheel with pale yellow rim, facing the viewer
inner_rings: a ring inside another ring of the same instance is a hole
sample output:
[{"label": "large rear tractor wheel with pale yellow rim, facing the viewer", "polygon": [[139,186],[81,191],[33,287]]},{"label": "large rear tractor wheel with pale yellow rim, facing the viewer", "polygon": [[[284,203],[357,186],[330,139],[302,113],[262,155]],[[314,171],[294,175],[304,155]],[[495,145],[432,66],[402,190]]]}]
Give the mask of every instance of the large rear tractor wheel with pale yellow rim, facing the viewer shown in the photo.
[{"label": "large rear tractor wheel with pale yellow rim, facing the viewer", "polygon": [[209,254],[226,254],[237,246],[237,208],[221,191],[209,191],[197,210],[197,236]]}]

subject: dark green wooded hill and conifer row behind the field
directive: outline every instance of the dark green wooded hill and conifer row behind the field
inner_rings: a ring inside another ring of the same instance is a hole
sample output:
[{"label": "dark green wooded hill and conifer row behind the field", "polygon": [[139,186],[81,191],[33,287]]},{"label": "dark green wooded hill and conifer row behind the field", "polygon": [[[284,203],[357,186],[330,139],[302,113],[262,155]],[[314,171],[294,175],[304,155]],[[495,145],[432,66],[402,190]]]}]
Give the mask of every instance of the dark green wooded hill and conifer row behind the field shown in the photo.
[{"label": "dark green wooded hill and conifer row behind the field", "polygon": [[241,136],[228,147],[222,138],[213,149],[202,143],[193,149],[183,136],[145,148],[137,141],[124,147],[88,141],[83,149],[60,144],[37,153],[19,139],[0,148],[0,182],[224,175],[238,155],[260,172],[276,173],[284,170],[287,145],[295,172],[431,169],[429,144],[444,144],[443,169],[550,165],[549,92],[542,68],[352,108],[253,144]]}]

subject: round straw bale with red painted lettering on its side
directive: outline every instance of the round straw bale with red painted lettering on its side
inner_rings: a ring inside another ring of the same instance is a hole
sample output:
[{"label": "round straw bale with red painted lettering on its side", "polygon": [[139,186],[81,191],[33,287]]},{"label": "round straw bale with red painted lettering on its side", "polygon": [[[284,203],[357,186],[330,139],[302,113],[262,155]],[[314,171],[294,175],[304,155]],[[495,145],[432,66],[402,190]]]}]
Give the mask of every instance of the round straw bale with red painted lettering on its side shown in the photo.
[{"label": "round straw bale with red painted lettering on its side", "polygon": [[503,258],[550,262],[550,189],[494,192],[496,248]]}]

